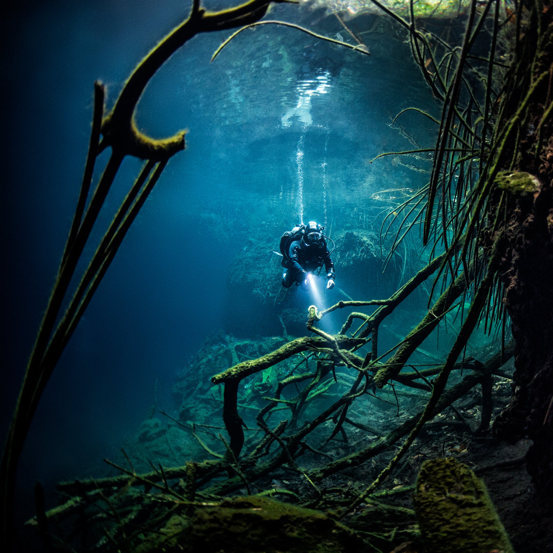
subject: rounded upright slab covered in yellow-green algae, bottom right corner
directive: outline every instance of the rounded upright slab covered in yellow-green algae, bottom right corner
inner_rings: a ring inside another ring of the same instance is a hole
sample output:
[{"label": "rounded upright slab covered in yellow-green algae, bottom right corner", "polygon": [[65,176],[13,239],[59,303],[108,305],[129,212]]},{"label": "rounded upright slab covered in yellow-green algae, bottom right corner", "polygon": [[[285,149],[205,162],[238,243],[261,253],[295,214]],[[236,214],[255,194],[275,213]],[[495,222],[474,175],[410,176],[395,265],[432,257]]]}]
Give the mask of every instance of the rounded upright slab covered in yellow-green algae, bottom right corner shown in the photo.
[{"label": "rounded upright slab covered in yellow-green algae, bottom right corner", "polygon": [[454,458],[422,465],[413,500],[425,551],[514,553],[486,486]]}]

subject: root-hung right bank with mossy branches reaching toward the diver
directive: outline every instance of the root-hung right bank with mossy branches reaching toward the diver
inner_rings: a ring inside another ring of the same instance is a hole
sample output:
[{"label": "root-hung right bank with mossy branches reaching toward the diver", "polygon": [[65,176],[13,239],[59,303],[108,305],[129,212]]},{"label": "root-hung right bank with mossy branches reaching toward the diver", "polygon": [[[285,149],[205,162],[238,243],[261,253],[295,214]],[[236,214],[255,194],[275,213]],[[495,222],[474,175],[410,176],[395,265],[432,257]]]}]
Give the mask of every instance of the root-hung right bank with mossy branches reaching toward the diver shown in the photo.
[{"label": "root-hung right bank with mossy branches reaching toward the diver", "polygon": [[[409,32],[414,59],[432,92],[442,101],[442,118],[435,120],[440,131],[429,184],[413,199],[390,212],[392,222],[388,227],[389,230],[399,221],[399,225],[395,225],[394,249],[421,223],[422,242],[426,244],[431,238],[434,241],[433,258],[398,291],[397,298],[373,302],[384,306],[372,316],[356,314],[363,320],[364,328],[353,336],[369,340],[372,334],[372,351],[364,361],[352,357],[352,353],[364,344],[343,342],[351,321],[342,328],[339,339],[317,330],[315,322],[328,311],[371,302],[339,302],[322,313],[311,307],[307,328],[324,338],[326,346],[317,348],[305,342],[301,347],[325,352],[333,362],[357,368],[359,377],[351,394],[363,379],[366,385],[372,382],[382,388],[400,374],[410,354],[452,309],[453,302],[460,299],[464,305],[466,299],[472,298],[455,343],[439,377],[434,380],[432,397],[424,413],[397,457],[368,487],[369,493],[399,462],[421,427],[431,418],[474,328],[483,322],[484,330],[491,331],[493,324],[500,322],[504,336],[505,325],[510,319],[517,344],[517,394],[513,405],[495,424],[494,431],[510,439],[525,434],[532,437],[534,446],[529,454],[529,471],[540,486],[551,489],[553,479],[547,468],[553,458],[550,416],[553,398],[547,386],[553,370],[550,317],[553,290],[548,276],[553,262],[550,215],[553,25],[550,4],[520,3],[517,14],[507,11],[503,17],[499,2],[487,2],[482,7],[472,2],[460,46],[449,45],[423,27],[418,28],[413,2],[410,2],[408,19],[376,0],[374,4]],[[521,30],[523,19],[535,33]],[[507,29],[509,22],[516,24],[514,36],[510,34],[512,29]],[[502,32],[507,34],[507,38],[502,38],[504,41],[512,36],[514,43],[509,45],[509,50],[503,49],[503,43],[500,45]],[[474,44],[482,36],[487,57],[472,53]],[[507,56],[511,56],[510,65],[504,61]],[[499,58],[502,61],[498,61]],[[502,72],[498,76],[499,69]],[[479,85],[474,85],[475,82]],[[410,153],[413,152],[395,152],[394,155]],[[536,247],[540,249],[539,254]],[[439,249],[444,253],[436,255]],[[387,307],[393,310],[403,294],[408,295],[435,271],[438,276],[434,287],[441,286],[442,295],[429,307],[420,324],[393,348],[396,353],[382,361],[385,354],[378,354],[377,332]],[[298,345],[294,343],[294,348]],[[288,352],[280,348],[274,354],[280,359]],[[225,406],[227,413],[232,413],[227,418],[227,430],[231,434],[231,447],[233,442],[237,444],[233,451],[235,456],[242,445],[241,421],[236,411],[238,381],[272,362],[265,356],[259,359],[257,366],[253,362],[242,363],[213,377],[213,382],[224,380],[226,387],[231,388]],[[533,390],[531,397],[526,395],[529,388]],[[342,397],[331,411],[345,402],[346,397]]]}]

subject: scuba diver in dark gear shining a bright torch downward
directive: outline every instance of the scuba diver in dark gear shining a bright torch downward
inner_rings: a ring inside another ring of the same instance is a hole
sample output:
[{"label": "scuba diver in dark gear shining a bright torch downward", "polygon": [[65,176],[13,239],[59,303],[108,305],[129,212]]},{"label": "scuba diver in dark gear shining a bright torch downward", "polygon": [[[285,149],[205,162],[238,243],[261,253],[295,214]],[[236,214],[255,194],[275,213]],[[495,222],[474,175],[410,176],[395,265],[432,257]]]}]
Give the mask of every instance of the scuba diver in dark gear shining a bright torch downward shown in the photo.
[{"label": "scuba diver in dark gear shining a bright torch downward", "polygon": [[334,288],[334,264],[325,240],[328,237],[322,234],[323,230],[324,227],[310,221],[307,225],[295,227],[283,234],[280,239],[280,252],[283,255],[281,264],[288,269],[282,277],[284,288],[290,288],[295,282],[301,284],[302,290],[309,290],[309,273],[321,269],[323,264],[328,279],[326,289]]}]

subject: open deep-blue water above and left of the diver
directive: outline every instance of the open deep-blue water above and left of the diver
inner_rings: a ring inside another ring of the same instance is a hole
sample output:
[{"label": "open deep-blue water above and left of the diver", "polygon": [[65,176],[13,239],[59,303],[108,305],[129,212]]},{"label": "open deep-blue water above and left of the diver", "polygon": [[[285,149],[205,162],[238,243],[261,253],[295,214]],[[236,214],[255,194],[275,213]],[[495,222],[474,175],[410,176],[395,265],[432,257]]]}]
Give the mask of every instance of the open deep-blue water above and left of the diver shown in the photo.
[{"label": "open deep-blue water above and left of the diver", "polygon": [[[135,64],[186,12],[181,0],[53,1],[22,2],[6,16],[2,436],[79,193],[93,82],[106,84],[112,105]],[[270,18],[348,36],[323,15],[276,6]],[[416,114],[390,127],[415,99],[433,109],[398,36],[368,34],[372,54],[362,56],[265,26],[210,64],[228,34],[192,39],[140,101],[140,129],[165,137],[187,128],[187,148],[171,159],[50,379],[20,463],[24,493],[38,479],[51,486],[100,475],[102,458],[134,434],[154,401],[174,408],[175,374],[206,336],[225,330],[227,272],[248,238],[273,239],[276,249],[302,215],[338,227],[340,213],[361,205],[376,220],[388,207],[377,192],[426,178],[393,158],[369,163],[412,149],[406,137],[421,147],[434,139]],[[125,162],[102,221],[138,168]],[[336,273],[354,295],[355,281]]]}]

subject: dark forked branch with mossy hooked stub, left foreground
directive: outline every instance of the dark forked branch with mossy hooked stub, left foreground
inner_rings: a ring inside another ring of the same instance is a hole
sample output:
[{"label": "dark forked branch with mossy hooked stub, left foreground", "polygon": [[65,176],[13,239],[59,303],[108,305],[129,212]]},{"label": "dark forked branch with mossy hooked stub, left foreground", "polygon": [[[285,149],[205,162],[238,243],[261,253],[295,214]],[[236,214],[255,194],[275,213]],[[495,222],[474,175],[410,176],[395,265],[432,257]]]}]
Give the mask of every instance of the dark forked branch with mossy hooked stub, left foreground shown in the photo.
[{"label": "dark forked branch with mossy hooked stub, left foreground", "polygon": [[[104,113],[105,87],[100,82],[95,84],[95,108],[90,147],[79,201],[2,455],[0,467],[2,535],[6,536],[8,543],[13,538],[11,505],[14,497],[14,475],[41,393],[61,352],[116,255],[128,228],[159,180],[169,159],[185,147],[185,131],[166,139],[152,139],[138,131],[134,121],[134,111],[140,96],[161,65],[193,36],[252,23],[263,17],[268,5],[269,2],[265,0],[251,0],[236,8],[207,12],[201,8],[198,1],[194,1],[189,17],[140,61],[123,86],[112,110],[107,114]],[[97,157],[107,148],[111,149],[111,155],[89,200]],[[92,226],[100,214],[109,189],[126,156],[145,160],[143,168],[134,183],[129,186],[127,196],[98,243],[88,267],[82,275],[75,275]],[[74,277],[79,278],[80,284],[75,291],[71,291],[70,283]],[[60,320],[64,301],[69,301],[69,307]]]}]

